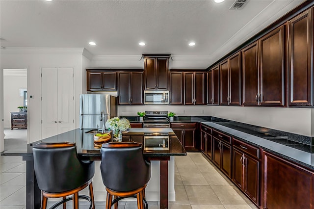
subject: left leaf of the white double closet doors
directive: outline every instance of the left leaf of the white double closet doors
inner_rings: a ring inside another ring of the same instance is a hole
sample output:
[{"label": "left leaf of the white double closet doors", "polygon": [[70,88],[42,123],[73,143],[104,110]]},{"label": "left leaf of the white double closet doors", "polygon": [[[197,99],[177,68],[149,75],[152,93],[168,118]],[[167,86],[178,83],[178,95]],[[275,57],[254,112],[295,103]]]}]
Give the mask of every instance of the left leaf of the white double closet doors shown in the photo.
[{"label": "left leaf of the white double closet doors", "polygon": [[58,69],[42,68],[42,138],[58,134]]}]

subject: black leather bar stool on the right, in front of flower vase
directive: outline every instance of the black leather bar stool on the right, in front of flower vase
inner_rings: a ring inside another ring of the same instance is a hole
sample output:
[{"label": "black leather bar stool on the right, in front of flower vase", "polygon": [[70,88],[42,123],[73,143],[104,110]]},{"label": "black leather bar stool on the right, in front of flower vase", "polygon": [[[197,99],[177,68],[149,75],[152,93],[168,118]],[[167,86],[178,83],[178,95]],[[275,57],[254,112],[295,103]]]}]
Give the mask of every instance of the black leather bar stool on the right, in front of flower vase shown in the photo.
[{"label": "black leather bar stool on the right, in front of flower vase", "polygon": [[[106,187],[106,209],[126,197],[137,198],[137,208],[146,208],[145,187],[151,178],[151,163],[143,156],[142,143],[109,142],[102,146],[101,173]],[[112,196],[115,200],[112,201]]]}]

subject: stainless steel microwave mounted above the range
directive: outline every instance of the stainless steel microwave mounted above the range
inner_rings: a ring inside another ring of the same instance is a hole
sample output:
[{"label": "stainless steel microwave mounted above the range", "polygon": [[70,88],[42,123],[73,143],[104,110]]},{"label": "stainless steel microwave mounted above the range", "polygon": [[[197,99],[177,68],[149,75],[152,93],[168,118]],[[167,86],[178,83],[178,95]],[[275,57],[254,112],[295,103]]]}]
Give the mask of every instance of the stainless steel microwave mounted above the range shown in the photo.
[{"label": "stainless steel microwave mounted above the range", "polygon": [[169,91],[145,90],[144,104],[169,104]]}]

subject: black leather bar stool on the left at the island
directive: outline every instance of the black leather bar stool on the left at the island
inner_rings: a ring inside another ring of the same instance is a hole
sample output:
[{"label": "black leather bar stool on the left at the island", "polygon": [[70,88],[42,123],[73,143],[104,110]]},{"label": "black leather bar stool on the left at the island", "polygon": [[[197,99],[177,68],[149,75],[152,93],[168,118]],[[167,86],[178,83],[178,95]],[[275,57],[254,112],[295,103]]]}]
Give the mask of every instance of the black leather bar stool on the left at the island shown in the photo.
[{"label": "black leather bar stool on the left at the island", "polygon": [[[89,209],[95,209],[92,179],[95,163],[80,161],[75,143],[39,143],[33,146],[34,170],[38,187],[42,190],[42,209],[47,208],[48,198],[62,197],[51,209],[73,200],[73,209],[78,209],[78,199],[89,201]],[[78,192],[89,186],[89,195]],[[67,196],[73,197],[67,198]]]}]

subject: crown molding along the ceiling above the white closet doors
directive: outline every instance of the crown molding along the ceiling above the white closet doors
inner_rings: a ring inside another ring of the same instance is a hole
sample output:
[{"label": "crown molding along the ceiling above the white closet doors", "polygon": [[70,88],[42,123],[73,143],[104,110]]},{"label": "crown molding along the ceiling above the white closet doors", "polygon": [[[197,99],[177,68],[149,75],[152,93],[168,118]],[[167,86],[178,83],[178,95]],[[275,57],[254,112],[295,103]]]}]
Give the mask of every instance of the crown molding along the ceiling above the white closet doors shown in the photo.
[{"label": "crown molding along the ceiling above the white closet doors", "polygon": [[83,54],[84,48],[6,47],[1,54]]}]

